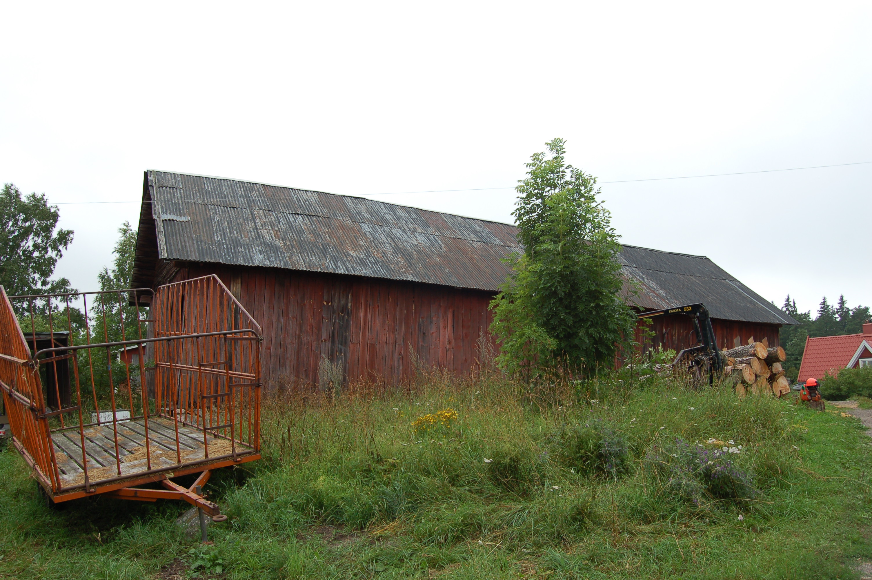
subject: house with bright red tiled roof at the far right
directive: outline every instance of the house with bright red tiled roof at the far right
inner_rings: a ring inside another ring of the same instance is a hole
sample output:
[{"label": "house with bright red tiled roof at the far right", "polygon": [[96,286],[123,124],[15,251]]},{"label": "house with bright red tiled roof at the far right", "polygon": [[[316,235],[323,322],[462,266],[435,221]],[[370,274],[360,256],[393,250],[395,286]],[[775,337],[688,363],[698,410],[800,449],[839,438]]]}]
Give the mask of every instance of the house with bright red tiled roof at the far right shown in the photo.
[{"label": "house with bright red tiled roof at the far right", "polygon": [[872,366],[872,323],[863,324],[860,334],[806,338],[799,380],[821,379],[827,372],[835,377],[841,369],[859,366]]}]

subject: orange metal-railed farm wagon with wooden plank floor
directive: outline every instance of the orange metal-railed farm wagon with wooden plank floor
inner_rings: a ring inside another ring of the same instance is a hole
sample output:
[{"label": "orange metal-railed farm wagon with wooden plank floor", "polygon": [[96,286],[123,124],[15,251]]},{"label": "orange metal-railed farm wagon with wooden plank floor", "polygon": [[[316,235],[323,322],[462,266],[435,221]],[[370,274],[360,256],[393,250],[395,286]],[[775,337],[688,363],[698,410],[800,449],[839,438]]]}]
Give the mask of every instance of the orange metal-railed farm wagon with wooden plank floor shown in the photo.
[{"label": "orange metal-railed farm wagon with wooden plank floor", "polygon": [[[213,469],[261,457],[262,331],[217,276],[0,295],[12,444],[51,502],[178,499],[200,508],[201,524],[226,519],[201,486]],[[197,473],[189,488],[171,481]],[[163,489],[137,487],[153,482]]]}]

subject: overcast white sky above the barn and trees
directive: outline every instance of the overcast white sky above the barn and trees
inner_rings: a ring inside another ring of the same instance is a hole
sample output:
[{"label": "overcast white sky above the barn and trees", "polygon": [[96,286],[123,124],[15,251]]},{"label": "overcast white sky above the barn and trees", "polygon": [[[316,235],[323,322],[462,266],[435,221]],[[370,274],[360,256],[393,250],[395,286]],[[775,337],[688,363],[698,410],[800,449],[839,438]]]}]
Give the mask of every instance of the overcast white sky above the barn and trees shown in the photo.
[{"label": "overcast white sky above the barn and trees", "polygon": [[[0,181],[81,290],[146,168],[511,222],[553,137],[600,181],[872,161],[869,3],[0,4]],[[475,188],[506,188],[473,191]],[[872,304],[872,163],[603,184],[624,243]]]}]

